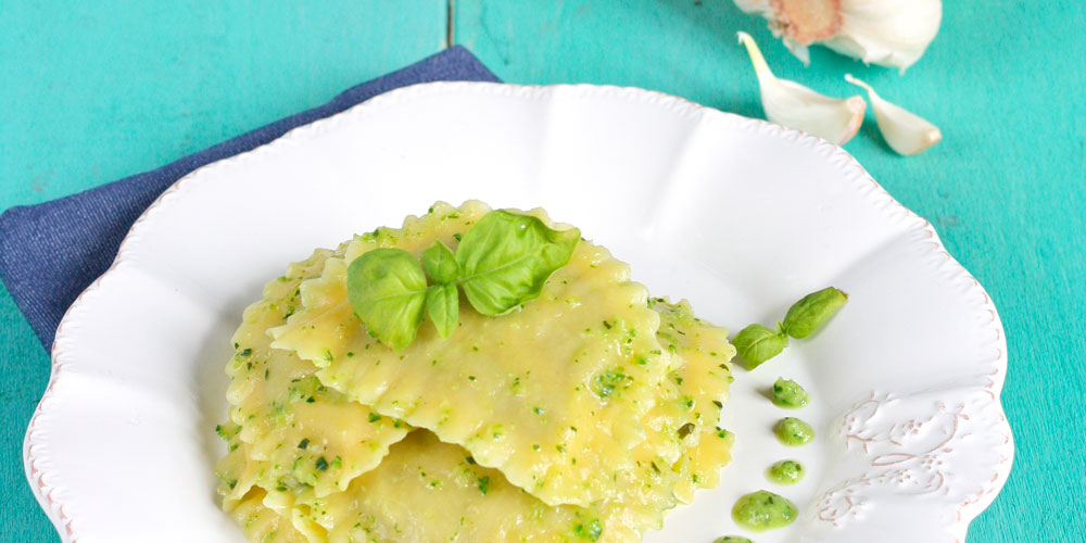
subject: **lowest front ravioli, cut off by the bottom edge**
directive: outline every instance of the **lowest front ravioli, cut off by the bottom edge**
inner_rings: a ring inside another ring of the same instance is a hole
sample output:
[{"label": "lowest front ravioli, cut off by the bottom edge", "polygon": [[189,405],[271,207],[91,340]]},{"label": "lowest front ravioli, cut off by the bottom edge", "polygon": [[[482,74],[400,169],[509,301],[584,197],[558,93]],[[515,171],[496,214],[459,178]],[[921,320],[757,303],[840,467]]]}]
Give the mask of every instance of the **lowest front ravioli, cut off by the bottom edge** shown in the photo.
[{"label": "lowest front ravioli, cut off by the bottom edge", "polygon": [[548,506],[478,465],[460,446],[416,430],[346,492],[320,501],[328,541],[608,541],[598,515]]}]

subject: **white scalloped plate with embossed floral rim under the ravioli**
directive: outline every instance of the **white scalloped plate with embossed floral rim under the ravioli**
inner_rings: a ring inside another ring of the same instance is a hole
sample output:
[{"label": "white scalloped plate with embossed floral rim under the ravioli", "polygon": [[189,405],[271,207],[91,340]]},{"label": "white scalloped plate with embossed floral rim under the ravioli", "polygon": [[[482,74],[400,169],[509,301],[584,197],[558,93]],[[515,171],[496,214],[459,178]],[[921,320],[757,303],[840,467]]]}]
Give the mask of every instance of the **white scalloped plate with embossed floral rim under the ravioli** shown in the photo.
[{"label": "white scalloped plate with embossed floral rim under the ravioli", "polygon": [[[724,425],[735,460],[649,542],[743,533],[758,489],[801,518],[774,542],[959,542],[1002,487],[1006,342],[932,227],[841,148],[639,89],[442,83],[375,98],[178,181],[68,310],[25,443],[66,542],[242,542],[217,506],[212,431],[228,337],[262,285],[316,247],[396,226],[435,200],[543,206],[629,262],[654,295],[737,330],[834,285],[847,307],[757,371]],[[812,445],[785,449],[778,377],[815,396]],[[785,457],[810,471],[774,488]]]}]

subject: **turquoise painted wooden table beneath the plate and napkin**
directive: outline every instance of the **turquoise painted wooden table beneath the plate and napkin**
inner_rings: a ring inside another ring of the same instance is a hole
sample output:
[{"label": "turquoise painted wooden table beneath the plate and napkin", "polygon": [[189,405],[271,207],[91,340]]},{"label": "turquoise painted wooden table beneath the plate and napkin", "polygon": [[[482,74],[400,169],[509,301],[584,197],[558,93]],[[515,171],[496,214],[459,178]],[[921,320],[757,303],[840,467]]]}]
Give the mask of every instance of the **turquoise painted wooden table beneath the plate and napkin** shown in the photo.
[{"label": "turquoise painted wooden table beneath the plate and napkin", "polygon": [[[512,83],[632,85],[752,116],[736,30],[780,76],[823,92],[854,93],[841,77],[853,72],[942,127],[944,142],[913,159],[872,125],[846,149],[936,226],[1007,328],[1018,456],[969,543],[1086,538],[1086,4],[947,2],[905,76],[820,48],[804,67],[730,0],[83,4],[0,11],[0,209],[165,164],[451,41]],[[21,460],[49,357],[7,290],[0,368],[0,541],[55,541]]]}]

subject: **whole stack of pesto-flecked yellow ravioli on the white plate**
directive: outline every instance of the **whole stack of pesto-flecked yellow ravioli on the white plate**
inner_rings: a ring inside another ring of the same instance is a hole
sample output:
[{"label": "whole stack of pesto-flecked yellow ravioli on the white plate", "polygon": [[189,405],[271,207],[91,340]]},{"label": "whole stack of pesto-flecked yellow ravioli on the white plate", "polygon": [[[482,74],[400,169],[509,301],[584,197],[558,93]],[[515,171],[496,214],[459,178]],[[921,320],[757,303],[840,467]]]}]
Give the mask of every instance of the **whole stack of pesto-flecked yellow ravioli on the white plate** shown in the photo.
[{"label": "whole stack of pesto-flecked yellow ravioli on the white plate", "polygon": [[602,247],[581,240],[507,315],[462,304],[446,339],[424,323],[393,351],[367,333],[348,265],[455,249],[489,211],[439,203],[317,250],[245,310],[216,472],[250,541],[633,542],[717,484],[728,331],[651,299]]}]

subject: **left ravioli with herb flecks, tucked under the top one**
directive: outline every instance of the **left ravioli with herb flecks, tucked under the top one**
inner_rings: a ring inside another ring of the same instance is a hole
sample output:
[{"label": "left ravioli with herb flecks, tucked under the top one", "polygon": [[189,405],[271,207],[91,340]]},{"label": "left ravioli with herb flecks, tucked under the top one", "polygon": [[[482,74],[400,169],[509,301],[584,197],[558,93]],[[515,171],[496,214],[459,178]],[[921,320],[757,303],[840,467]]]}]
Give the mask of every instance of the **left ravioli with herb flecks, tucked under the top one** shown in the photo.
[{"label": "left ravioli with herb flecks, tucked under the top one", "polygon": [[[270,348],[267,329],[298,310],[299,285],[334,254],[318,250],[270,281],[233,336],[236,354],[227,365],[231,431],[248,445],[253,483],[268,491],[321,496],[345,489],[408,430],[323,386],[312,364]],[[233,489],[228,495],[236,500],[247,491]]]}]

